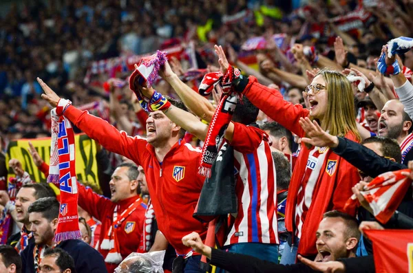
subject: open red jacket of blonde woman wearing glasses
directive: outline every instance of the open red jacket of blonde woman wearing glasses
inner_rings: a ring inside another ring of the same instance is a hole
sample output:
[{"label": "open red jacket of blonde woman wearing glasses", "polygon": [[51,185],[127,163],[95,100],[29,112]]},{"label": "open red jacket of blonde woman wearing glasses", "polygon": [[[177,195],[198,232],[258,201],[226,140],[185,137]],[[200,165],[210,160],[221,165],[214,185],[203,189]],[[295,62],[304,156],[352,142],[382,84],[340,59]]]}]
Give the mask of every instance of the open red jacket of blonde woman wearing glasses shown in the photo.
[{"label": "open red jacket of blonde woman wearing glasses", "polygon": [[[290,102],[286,102],[279,91],[260,85],[253,76],[249,77],[248,85],[246,85],[243,94],[270,118],[279,122],[279,124],[282,124],[282,126],[300,138],[304,137],[305,132],[298,121],[299,118],[308,116],[310,111],[304,109],[301,105],[293,105]],[[345,136],[350,140],[357,141],[351,132]],[[286,227],[290,232],[295,231],[294,219],[297,195],[301,186],[301,179],[306,170],[308,153],[309,150],[306,145],[301,144],[301,151],[288,188]],[[302,255],[317,254],[315,232],[319,222],[323,219],[324,212],[329,210],[343,211],[344,204],[352,195],[352,186],[357,184],[360,179],[357,168],[335,153],[332,153],[330,149],[326,153],[328,154],[321,170],[326,170],[326,162],[329,160],[337,160],[336,171],[331,176],[326,171],[321,171],[319,175],[313,193],[313,201],[308,210],[304,226],[301,229],[301,234],[303,235],[299,241],[298,253]],[[352,215],[355,215],[355,211],[352,212]]]}]

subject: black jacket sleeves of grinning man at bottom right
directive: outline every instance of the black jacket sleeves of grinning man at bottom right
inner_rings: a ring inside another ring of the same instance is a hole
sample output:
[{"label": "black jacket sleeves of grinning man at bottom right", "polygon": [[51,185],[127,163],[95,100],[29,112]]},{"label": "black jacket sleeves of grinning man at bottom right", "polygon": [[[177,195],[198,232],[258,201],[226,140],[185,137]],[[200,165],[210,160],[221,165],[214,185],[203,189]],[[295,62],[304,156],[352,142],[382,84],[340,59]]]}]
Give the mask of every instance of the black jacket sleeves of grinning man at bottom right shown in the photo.
[{"label": "black jacket sleeves of grinning man at bottom right", "polygon": [[[363,256],[350,259],[340,259],[346,265],[346,272],[352,273],[374,273],[373,256]],[[211,253],[211,264],[223,270],[233,273],[315,273],[315,271],[304,265],[278,265],[269,261],[262,261],[253,256],[225,252],[213,249]]]}]

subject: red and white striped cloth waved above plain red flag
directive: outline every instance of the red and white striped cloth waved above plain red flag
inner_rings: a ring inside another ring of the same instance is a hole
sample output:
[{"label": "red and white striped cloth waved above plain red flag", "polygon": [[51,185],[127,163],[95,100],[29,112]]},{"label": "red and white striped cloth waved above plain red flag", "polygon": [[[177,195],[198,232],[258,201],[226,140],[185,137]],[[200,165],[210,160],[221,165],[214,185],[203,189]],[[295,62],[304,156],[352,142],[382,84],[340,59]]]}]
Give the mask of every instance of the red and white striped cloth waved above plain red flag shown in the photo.
[{"label": "red and white striped cloth waved above plain red flag", "polygon": [[[401,173],[409,169],[382,173],[374,178],[361,194],[366,198],[373,210],[374,217],[381,223],[387,223],[396,208],[399,207],[412,180]],[[344,210],[357,206],[359,200],[355,195],[348,199]]]}]

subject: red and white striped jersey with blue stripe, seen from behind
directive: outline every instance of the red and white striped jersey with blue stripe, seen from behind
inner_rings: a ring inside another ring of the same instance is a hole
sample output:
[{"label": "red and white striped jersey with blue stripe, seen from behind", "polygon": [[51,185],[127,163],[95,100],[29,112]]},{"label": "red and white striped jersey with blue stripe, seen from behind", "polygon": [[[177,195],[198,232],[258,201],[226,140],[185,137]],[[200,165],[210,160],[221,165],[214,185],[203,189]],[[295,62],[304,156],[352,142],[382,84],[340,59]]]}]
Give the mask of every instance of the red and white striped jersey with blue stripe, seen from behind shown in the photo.
[{"label": "red and white striped jersey with blue stripe, seen from behind", "polygon": [[235,123],[235,191],[238,212],[225,245],[279,243],[275,165],[264,131]]}]

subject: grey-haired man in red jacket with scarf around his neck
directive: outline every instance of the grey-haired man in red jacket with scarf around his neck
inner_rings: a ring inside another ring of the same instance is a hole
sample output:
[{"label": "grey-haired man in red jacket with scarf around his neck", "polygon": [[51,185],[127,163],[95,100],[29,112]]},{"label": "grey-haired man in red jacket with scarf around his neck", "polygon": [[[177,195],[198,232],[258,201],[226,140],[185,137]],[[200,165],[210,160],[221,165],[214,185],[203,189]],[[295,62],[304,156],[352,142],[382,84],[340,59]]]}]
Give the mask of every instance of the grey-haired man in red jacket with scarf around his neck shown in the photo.
[{"label": "grey-haired man in red jacket with scarf around his neck", "polygon": [[[138,167],[135,164],[120,164],[112,174],[109,187],[111,198],[107,199],[78,183],[78,202],[102,223],[98,251],[105,257],[108,272],[113,272],[118,263],[138,249],[147,206],[138,195]],[[108,240],[114,240],[115,245],[105,245]],[[113,250],[120,254],[117,254],[120,261],[112,259]]]}]

